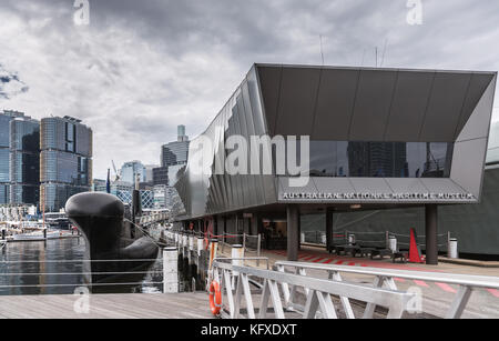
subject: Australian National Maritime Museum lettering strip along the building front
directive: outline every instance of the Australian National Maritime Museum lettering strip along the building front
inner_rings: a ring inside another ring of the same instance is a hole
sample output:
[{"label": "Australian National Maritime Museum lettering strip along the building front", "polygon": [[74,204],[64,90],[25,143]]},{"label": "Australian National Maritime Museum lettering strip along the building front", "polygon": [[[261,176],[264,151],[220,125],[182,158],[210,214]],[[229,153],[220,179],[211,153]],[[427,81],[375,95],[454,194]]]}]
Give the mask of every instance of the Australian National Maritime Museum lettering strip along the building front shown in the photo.
[{"label": "Australian National Maritime Museum lettering strip along the building front", "polygon": [[282,200],[305,201],[476,201],[470,193],[283,193]]}]

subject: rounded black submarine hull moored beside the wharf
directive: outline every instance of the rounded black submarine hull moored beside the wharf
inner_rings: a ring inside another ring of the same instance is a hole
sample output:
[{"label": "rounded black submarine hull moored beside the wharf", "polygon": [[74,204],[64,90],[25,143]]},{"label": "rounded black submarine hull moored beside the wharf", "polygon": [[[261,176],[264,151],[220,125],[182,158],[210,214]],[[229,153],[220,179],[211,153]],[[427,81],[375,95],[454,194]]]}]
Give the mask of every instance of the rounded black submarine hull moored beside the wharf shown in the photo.
[{"label": "rounded black submarine hull moored beside the wharf", "polygon": [[[124,205],[106,193],[81,193],[68,200],[68,218],[86,241],[92,292],[141,282],[157,258],[154,241],[124,219]],[[140,272],[140,273],[131,273]]]}]

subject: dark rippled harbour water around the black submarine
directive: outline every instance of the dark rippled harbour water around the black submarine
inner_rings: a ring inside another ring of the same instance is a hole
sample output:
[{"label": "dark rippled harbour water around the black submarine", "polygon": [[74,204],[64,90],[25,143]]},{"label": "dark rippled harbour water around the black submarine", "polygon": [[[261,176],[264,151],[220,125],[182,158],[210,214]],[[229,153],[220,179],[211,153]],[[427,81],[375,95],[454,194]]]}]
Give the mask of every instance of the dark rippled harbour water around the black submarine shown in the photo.
[{"label": "dark rippled harbour water around the black submarine", "polygon": [[[0,295],[74,293],[77,288],[85,287],[85,264],[83,238],[8,243],[0,251]],[[136,284],[99,288],[99,292],[161,292],[161,259],[144,272],[139,281],[135,277]]]}]

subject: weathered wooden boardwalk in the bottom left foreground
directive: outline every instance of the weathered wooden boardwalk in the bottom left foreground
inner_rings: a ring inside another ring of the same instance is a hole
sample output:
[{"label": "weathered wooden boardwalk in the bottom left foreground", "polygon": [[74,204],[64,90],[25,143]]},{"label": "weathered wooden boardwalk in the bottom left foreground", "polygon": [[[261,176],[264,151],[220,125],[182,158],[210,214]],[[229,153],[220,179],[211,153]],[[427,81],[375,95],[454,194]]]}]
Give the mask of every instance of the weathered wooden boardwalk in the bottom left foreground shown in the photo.
[{"label": "weathered wooden boardwalk in the bottom left foreground", "polygon": [[212,319],[206,293],[93,294],[89,313],[77,295],[0,297],[0,319]]}]

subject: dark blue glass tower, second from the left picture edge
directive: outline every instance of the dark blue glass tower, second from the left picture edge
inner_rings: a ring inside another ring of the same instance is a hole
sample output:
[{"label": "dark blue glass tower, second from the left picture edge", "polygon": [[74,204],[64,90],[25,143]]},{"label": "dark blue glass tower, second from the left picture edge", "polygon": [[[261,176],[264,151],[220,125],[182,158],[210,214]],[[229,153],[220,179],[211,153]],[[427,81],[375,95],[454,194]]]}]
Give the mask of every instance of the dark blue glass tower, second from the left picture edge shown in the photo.
[{"label": "dark blue glass tower, second from the left picture edge", "polygon": [[40,122],[29,117],[10,122],[10,203],[40,203]]}]

